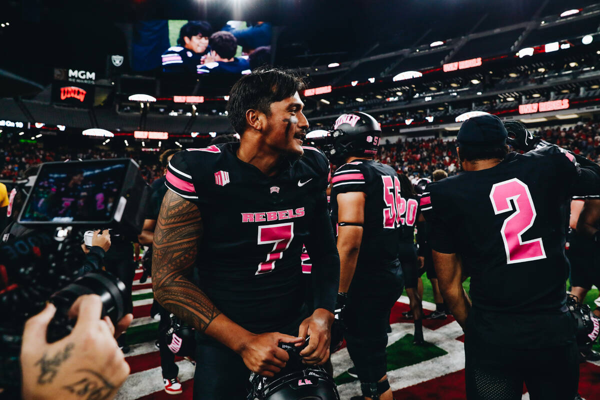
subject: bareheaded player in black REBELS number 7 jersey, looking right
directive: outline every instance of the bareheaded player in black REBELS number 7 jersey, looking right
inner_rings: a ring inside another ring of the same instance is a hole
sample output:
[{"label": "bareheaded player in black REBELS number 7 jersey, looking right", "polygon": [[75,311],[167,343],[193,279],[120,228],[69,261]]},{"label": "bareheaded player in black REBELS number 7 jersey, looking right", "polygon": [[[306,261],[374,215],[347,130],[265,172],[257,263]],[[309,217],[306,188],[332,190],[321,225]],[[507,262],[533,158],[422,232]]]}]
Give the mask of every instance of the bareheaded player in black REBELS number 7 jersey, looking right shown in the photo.
[{"label": "bareheaded player in black REBELS number 7 jersey, looking right", "polygon": [[[340,267],[325,194],[329,161],[302,147],[303,88],[276,69],[242,77],[227,105],[241,141],[188,149],[169,163],[152,284],[161,305],[199,332],[194,399],[245,398],[250,371],[272,377],[286,365],[280,342],[310,336],[304,362],[329,359]],[[313,264],[310,307],[303,244]]]}]

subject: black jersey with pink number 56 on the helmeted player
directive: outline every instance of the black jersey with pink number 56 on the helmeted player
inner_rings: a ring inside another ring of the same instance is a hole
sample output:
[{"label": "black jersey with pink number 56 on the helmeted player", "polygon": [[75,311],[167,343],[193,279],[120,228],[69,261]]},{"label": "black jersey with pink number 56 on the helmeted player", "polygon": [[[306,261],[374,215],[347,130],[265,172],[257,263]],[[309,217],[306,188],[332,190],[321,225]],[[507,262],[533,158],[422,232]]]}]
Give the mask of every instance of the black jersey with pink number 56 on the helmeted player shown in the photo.
[{"label": "black jersey with pink number 56 on the helmeted player", "polygon": [[[331,218],[338,220],[337,195],[364,192],[365,219],[356,272],[398,260],[400,227],[406,221],[406,201],[400,197],[400,180],[392,167],[373,160],[355,160],[332,176]],[[415,204],[416,205],[416,204]]]}]

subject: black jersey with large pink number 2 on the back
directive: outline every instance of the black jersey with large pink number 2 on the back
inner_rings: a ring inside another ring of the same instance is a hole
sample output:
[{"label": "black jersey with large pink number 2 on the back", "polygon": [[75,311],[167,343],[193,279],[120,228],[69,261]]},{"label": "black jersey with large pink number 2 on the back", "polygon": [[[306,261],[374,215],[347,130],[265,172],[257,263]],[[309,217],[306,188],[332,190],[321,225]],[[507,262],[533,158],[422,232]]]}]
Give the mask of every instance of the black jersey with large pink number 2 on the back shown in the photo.
[{"label": "black jersey with large pink number 2 on the back", "polygon": [[586,190],[582,170],[572,154],[548,146],[427,185],[428,242],[459,254],[471,277],[467,334],[524,347],[572,341],[565,218],[572,192]]}]

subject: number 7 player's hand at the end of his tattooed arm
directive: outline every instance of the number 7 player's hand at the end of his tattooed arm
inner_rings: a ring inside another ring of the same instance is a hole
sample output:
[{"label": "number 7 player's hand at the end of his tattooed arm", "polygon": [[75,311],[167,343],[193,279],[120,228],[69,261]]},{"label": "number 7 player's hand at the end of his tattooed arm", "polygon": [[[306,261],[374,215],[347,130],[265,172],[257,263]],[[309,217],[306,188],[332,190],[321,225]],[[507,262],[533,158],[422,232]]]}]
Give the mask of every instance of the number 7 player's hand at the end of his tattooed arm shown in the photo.
[{"label": "number 7 player's hand at the end of his tattooed arm", "polygon": [[286,366],[290,356],[287,351],[279,347],[280,342],[302,344],[304,338],[296,338],[279,332],[252,334],[245,342],[239,355],[244,364],[252,372],[265,377],[273,377],[281,368]]}]

